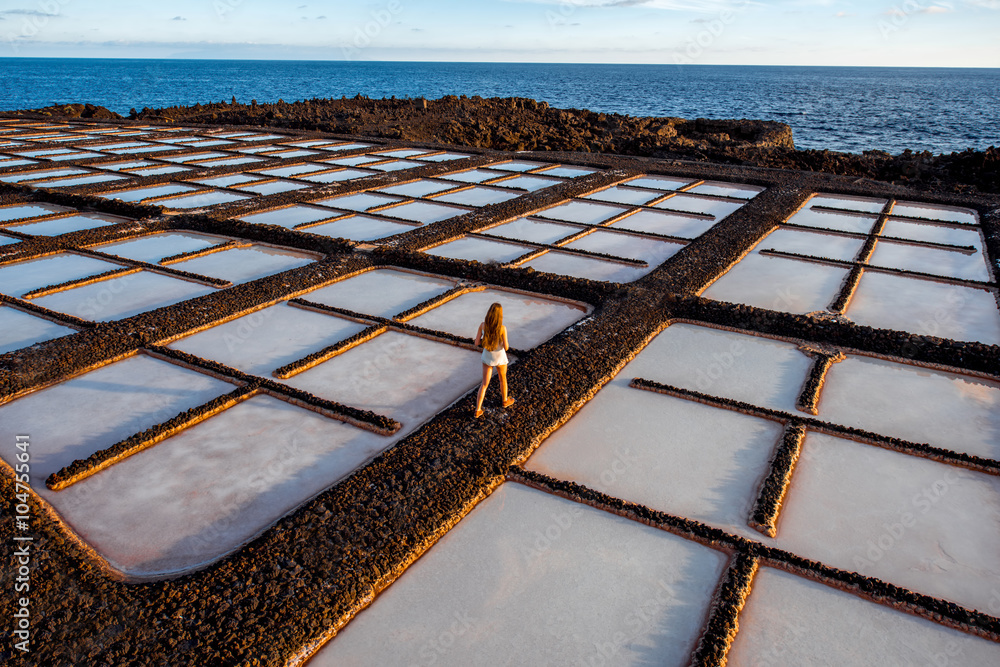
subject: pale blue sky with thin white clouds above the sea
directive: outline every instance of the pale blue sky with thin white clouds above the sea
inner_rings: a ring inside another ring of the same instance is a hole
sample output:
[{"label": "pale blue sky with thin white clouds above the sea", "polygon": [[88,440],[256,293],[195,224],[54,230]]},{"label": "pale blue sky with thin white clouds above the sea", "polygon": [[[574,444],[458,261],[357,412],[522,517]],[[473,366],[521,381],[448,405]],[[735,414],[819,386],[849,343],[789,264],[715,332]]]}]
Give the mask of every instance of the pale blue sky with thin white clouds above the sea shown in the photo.
[{"label": "pale blue sky with thin white clouds above the sea", "polygon": [[1000,0],[0,0],[0,57],[1000,67]]}]

